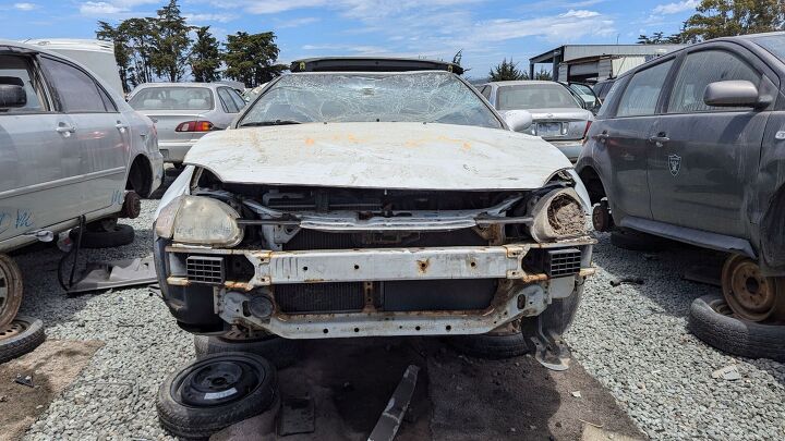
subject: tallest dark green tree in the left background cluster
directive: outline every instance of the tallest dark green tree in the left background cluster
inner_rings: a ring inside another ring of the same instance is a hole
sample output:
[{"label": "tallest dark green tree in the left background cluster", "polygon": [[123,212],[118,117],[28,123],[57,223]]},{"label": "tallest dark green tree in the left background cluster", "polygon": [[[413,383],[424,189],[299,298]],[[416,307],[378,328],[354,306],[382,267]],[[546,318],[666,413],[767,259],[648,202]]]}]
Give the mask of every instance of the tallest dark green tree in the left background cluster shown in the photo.
[{"label": "tallest dark green tree in the left background cluster", "polygon": [[185,74],[188,49],[191,46],[189,32],[191,26],[180,14],[177,0],[158,10],[158,17],[153,19],[154,47],[150,63],[156,75],[165,76],[170,82],[179,82]]}]

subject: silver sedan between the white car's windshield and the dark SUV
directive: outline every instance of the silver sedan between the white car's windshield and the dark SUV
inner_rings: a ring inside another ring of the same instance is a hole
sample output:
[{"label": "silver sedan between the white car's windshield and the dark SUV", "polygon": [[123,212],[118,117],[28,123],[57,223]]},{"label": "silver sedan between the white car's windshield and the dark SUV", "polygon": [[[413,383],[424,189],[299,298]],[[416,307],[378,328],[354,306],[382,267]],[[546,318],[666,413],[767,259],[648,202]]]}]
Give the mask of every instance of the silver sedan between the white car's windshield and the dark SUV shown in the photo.
[{"label": "silver sedan between the white car's windshield and the dark SUV", "polygon": [[573,163],[594,115],[564,85],[546,81],[493,82],[479,86],[480,93],[500,112],[527,110],[533,124],[523,131],[540,136]]}]

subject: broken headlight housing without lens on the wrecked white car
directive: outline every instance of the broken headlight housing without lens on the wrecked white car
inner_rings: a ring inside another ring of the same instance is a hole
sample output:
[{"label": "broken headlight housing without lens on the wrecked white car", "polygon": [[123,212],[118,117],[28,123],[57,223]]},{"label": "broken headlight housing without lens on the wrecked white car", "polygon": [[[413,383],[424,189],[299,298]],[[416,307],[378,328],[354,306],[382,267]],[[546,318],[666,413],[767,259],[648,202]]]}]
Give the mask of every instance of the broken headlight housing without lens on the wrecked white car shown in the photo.
[{"label": "broken headlight housing without lens on the wrecked white car", "polygon": [[580,197],[572,188],[555,189],[540,198],[530,211],[532,238],[548,242],[587,234],[587,218]]}]

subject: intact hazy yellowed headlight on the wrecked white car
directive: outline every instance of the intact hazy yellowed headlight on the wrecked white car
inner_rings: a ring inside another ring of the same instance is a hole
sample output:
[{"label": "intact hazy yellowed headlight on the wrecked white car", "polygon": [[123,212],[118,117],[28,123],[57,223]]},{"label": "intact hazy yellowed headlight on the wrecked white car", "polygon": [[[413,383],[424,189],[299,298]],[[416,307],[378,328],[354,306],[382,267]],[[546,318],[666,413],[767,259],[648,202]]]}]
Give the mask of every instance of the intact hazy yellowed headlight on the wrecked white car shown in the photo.
[{"label": "intact hazy yellowed headlight on the wrecked white car", "polygon": [[243,240],[243,229],[237,224],[239,217],[220,200],[183,195],[161,209],[156,234],[185,244],[232,247]]}]

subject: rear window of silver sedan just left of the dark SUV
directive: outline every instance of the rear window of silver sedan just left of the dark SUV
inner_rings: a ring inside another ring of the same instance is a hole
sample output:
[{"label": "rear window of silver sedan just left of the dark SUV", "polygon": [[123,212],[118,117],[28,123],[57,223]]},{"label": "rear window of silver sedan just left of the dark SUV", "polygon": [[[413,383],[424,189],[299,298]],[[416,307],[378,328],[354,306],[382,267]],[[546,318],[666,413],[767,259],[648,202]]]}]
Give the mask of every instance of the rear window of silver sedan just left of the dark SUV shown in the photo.
[{"label": "rear window of silver sedan just left of the dark SUV", "polygon": [[580,108],[578,101],[560,84],[502,86],[498,89],[499,110]]}]

